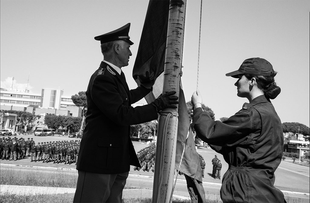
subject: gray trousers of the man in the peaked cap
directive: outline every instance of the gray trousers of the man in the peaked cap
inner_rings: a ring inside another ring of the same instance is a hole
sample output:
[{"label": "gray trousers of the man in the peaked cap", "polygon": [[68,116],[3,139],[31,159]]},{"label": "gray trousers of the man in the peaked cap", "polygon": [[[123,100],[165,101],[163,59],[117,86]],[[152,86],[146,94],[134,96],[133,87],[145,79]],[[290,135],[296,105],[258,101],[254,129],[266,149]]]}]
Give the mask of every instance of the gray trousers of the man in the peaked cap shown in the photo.
[{"label": "gray trousers of the man in the peaked cap", "polygon": [[78,183],[73,203],[122,202],[122,193],[129,172],[96,174],[78,171]]}]

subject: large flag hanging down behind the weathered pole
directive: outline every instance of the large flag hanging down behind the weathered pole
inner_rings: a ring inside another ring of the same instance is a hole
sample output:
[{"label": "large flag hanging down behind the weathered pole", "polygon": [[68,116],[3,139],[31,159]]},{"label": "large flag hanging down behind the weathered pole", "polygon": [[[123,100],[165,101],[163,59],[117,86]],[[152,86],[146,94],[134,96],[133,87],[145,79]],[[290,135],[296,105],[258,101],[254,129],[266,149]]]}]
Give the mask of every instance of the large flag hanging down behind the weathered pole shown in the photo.
[{"label": "large flag hanging down behind the weathered pole", "polygon": [[[154,101],[163,91],[169,3],[169,1],[149,1],[133,68],[132,75],[138,85],[143,84],[148,88],[153,86],[153,92],[144,97],[148,103]],[[195,141],[191,130],[188,139],[186,139],[190,122],[184,92],[182,85],[180,86],[175,169],[179,169],[179,163],[185,146],[180,171],[202,182],[200,158],[195,148]]]}]

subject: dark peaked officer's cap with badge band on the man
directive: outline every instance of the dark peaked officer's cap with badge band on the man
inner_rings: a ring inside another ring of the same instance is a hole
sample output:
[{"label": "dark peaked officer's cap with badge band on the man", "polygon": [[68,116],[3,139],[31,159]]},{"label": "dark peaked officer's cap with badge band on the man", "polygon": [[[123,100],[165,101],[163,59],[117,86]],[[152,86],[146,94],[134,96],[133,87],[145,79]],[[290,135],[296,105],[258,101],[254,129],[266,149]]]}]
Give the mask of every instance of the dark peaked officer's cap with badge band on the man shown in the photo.
[{"label": "dark peaked officer's cap with badge band on the man", "polygon": [[134,43],[131,42],[129,39],[129,29],[130,29],[130,23],[127,23],[126,25],[113,30],[111,32],[108,32],[106,34],[102,34],[99,36],[95,37],[95,40],[100,41],[100,43],[106,43],[106,42],[111,42],[111,41],[116,41],[116,40],[125,40],[127,41],[130,45],[133,45]]}]

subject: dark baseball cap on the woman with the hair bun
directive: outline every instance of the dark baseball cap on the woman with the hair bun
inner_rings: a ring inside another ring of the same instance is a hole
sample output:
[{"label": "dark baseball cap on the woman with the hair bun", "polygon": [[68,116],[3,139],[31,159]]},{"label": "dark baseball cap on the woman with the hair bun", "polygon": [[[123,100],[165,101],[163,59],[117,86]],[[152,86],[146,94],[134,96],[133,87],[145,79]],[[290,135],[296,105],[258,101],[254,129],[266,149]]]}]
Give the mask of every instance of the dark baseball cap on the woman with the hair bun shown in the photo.
[{"label": "dark baseball cap on the woman with the hair bun", "polygon": [[262,76],[276,76],[271,63],[263,58],[249,58],[243,61],[240,68],[233,72],[227,73],[226,76],[238,78],[240,74],[262,75]]}]

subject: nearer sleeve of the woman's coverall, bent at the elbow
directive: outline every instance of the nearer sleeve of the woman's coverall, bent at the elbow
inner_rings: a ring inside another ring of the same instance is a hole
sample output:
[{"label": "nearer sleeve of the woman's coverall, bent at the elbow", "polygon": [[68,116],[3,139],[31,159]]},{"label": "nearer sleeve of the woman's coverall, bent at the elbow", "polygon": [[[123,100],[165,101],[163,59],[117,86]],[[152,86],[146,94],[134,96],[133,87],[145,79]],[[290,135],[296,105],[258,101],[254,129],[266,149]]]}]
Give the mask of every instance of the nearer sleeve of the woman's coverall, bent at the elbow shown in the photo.
[{"label": "nearer sleeve of the woman's coverall, bent at the elbow", "polygon": [[[198,137],[211,145],[211,148],[220,153],[222,147],[238,145],[254,129],[253,118],[249,112],[238,111],[228,120],[215,121],[201,108],[194,110],[193,126]],[[215,146],[212,146],[215,145]]]}]

